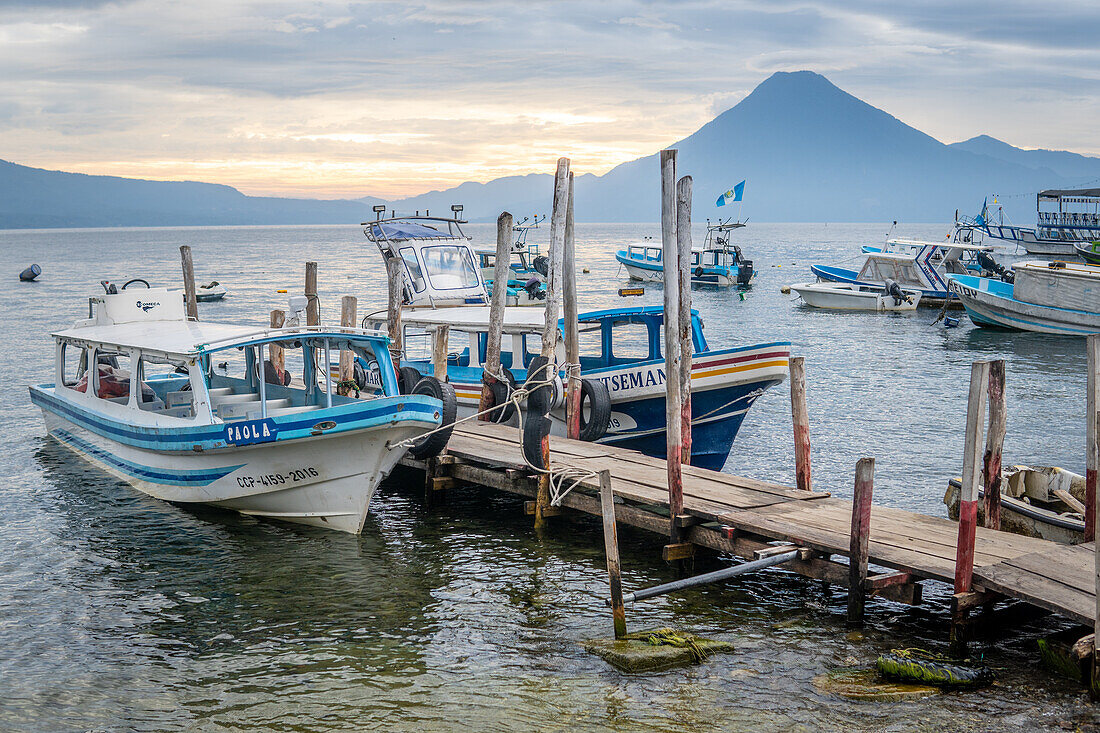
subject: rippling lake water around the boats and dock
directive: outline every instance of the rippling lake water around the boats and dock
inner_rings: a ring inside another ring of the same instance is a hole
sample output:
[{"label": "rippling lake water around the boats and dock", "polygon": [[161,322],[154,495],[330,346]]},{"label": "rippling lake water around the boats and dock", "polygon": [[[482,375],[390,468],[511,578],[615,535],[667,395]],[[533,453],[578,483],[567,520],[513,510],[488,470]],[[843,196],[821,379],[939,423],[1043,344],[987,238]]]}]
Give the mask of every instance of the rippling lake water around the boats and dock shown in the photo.
[{"label": "rippling lake water around the boats and dock", "polygon": [[[470,226],[475,243],[494,228]],[[898,233],[941,239],[944,229]],[[544,240],[541,237],[531,241]],[[657,226],[579,225],[583,308],[619,303],[614,250]],[[702,229],[697,229],[702,239]],[[790,340],[806,358],[815,486],[850,496],[862,456],[875,501],[943,516],[959,473],[970,362],[1008,361],[1009,463],[1084,472],[1084,341],[933,325],[916,314],[813,311],[780,286],[809,265],[859,260],[873,225],[750,225],[735,232],[759,271],[744,299],[695,289],[712,347]],[[556,521],[541,538],[521,502],[453,491],[425,511],[395,475],[361,537],[160,502],[46,439],[26,385],[51,381],[52,330],[87,311],[99,281],[197,278],[229,297],[200,317],[266,324],[319,263],[322,320],[339,296],[385,303],[381,259],[358,227],[0,231],[0,729],[55,730],[1062,730],[1097,718],[1042,669],[1035,638],[1065,624],[983,624],[976,652],[999,681],[917,702],[851,702],[812,679],[873,665],[897,646],[942,649],[946,590],[914,609],[871,602],[861,633],[845,595],[783,571],[628,608],[631,628],[728,639],[732,655],[623,675],[581,641],[610,634],[598,525]],[[41,282],[15,273],[42,265]],[[631,304],[659,304],[647,286]],[[793,481],[785,384],[750,411],[729,472]],[[628,589],[671,579],[644,535],[622,530]],[[702,568],[700,568],[702,569]]]}]

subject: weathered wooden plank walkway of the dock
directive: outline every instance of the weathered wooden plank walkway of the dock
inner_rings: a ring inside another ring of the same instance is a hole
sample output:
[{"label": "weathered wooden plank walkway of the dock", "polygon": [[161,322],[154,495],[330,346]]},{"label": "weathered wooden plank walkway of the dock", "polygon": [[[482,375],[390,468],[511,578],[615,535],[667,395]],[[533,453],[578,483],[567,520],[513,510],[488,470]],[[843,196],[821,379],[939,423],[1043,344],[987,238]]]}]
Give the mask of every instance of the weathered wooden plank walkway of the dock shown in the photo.
[{"label": "weathered wooden plank walkway of the dock", "polygon": [[[612,490],[625,502],[618,510],[620,522],[667,532],[663,459],[559,437],[552,437],[550,444],[556,469],[610,472]],[[534,495],[531,471],[522,460],[515,427],[462,424],[455,428],[447,452],[455,461],[453,475],[458,479]],[[849,501],[694,467],[684,467],[683,484],[684,513],[700,524],[712,523],[707,526],[713,536],[701,541],[697,530],[702,527],[693,527],[696,532],[689,535],[692,541],[741,554],[746,547],[783,540],[816,550],[823,558],[815,560],[818,566],[831,555],[848,555]],[[582,481],[563,504],[598,515],[598,501],[592,499],[598,495],[598,489],[596,478]],[[722,536],[746,536],[749,544],[716,541],[719,527]],[[950,584],[957,538],[958,525],[948,518],[873,506],[869,559],[875,565],[908,571],[915,580]],[[1069,547],[982,527],[977,530],[974,577],[978,591],[1019,599],[1091,624],[1096,610],[1092,568],[1091,544]],[[792,569],[798,571],[799,567]],[[809,569],[810,565],[803,564],[803,570]],[[806,575],[822,577],[822,569]],[[835,568],[824,575],[833,580],[842,578]],[[846,577],[846,572],[843,575]]]}]

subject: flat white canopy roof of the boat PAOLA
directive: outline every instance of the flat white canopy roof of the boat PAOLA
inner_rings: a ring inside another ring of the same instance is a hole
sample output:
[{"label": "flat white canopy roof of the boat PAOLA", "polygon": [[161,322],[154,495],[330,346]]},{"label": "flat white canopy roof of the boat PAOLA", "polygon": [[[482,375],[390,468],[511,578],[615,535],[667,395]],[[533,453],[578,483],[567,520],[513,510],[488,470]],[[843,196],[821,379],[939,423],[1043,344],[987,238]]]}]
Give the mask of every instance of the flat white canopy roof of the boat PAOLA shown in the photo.
[{"label": "flat white canopy roof of the boat PAOLA", "polygon": [[87,346],[107,346],[118,349],[138,349],[146,354],[168,359],[188,360],[205,353],[277,341],[311,339],[340,339],[351,341],[388,340],[380,331],[358,328],[326,328],[322,326],[267,328],[235,324],[204,321],[145,320],[108,326],[77,324],[64,331],[56,331],[58,340]]}]

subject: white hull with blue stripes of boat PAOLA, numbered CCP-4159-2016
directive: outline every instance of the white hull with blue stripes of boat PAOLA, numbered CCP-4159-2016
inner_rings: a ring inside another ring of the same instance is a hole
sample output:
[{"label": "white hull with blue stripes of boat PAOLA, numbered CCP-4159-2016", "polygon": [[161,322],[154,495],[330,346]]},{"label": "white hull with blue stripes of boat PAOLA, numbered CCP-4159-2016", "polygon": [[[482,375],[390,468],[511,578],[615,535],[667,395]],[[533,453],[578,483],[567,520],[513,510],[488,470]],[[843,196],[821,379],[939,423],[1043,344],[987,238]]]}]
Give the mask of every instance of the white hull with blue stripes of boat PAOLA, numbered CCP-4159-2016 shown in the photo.
[{"label": "white hull with blue stripes of boat PAOLA, numbered CCP-4159-2016", "polygon": [[[391,446],[439,424],[438,417],[425,416],[342,433],[293,439],[282,439],[280,433],[270,442],[176,451],[120,441],[79,405],[72,412],[53,408],[64,400],[35,402],[51,437],[151,496],[352,534],[362,530],[378,483],[405,453]],[[76,419],[74,412],[84,415]]]}]

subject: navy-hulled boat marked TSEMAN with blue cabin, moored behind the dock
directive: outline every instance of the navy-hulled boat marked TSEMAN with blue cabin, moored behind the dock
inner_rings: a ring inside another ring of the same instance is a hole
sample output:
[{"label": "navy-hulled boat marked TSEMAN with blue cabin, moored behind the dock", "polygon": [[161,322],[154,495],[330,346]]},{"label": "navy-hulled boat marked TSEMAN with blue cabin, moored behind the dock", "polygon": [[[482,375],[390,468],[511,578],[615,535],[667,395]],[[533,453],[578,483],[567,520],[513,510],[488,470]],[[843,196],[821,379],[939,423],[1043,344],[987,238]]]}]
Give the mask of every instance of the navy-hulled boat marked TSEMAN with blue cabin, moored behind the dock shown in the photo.
[{"label": "navy-hulled boat marked TSEMAN with blue cabin, moored behind the dock", "polygon": [[[431,374],[429,333],[450,327],[447,375],[454,385],[458,415],[477,411],[482,391],[490,309],[486,307],[408,310],[402,316],[406,354],[402,368]],[[664,456],[664,314],[659,306],[583,313],[580,321],[582,439]],[[541,349],[543,314],[527,308],[505,311],[502,365],[517,383]],[[559,332],[559,337],[560,337]],[[721,470],[749,408],[769,387],[783,381],[790,365],[788,341],[711,349],[698,314],[692,311],[693,466]],[[558,363],[564,362],[559,338]],[[565,435],[563,390],[556,390],[551,434]],[[606,404],[604,401],[607,401]],[[609,406],[609,407],[608,407]],[[607,412],[609,409],[609,412]],[[608,415],[606,426],[592,415]],[[501,420],[518,420],[503,413]]]}]

